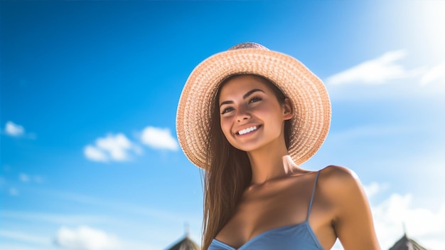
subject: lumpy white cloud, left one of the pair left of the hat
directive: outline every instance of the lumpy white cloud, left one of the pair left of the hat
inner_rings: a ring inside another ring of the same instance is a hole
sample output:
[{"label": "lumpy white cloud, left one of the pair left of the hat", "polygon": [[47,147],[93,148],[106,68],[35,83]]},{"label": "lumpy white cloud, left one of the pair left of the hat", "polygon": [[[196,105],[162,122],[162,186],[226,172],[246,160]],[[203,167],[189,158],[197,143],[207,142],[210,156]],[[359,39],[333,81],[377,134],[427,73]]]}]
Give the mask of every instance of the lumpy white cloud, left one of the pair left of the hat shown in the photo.
[{"label": "lumpy white cloud, left one of the pair left of the hat", "polygon": [[131,152],[140,154],[141,148],[122,133],[98,138],[95,145],[87,145],[84,148],[85,157],[96,162],[130,160]]}]

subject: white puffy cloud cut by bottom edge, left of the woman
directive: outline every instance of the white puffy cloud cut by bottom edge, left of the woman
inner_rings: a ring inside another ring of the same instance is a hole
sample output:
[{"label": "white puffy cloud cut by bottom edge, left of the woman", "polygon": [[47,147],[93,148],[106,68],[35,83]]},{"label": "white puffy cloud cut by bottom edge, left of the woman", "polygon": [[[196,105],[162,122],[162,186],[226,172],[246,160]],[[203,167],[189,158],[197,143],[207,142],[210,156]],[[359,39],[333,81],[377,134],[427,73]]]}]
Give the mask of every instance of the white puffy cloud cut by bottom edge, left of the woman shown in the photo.
[{"label": "white puffy cloud cut by bottom edge, left of the woman", "polygon": [[77,229],[62,226],[55,236],[55,244],[65,249],[82,250],[116,249],[119,246],[115,236],[89,226]]}]

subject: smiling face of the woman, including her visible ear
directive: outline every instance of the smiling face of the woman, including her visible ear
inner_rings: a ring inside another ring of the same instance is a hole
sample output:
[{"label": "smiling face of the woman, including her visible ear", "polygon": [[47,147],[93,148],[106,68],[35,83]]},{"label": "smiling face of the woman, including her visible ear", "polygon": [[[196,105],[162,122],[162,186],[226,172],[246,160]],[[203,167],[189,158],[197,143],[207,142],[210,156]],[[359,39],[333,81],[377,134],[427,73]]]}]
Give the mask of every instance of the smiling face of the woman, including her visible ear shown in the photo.
[{"label": "smiling face of the woman, including her visible ear", "polygon": [[284,143],[284,120],[291,104],[278,102],[269,86],[254,75],[230,79],[220,90],[220,125],[233,147],[250,152],[274,142]]}]

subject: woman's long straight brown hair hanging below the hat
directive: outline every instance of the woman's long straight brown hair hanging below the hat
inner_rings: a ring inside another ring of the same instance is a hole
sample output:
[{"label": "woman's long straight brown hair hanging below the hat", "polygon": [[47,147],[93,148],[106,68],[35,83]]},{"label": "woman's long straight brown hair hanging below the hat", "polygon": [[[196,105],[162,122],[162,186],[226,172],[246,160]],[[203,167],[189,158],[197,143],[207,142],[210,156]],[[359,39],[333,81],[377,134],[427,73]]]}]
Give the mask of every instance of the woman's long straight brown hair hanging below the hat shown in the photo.
[{"label": "woman's long straight brown hair hanging below the hat", "polygon": [[[242,193],[252,179],[252,169],[247,152],[230,145],[220,127],[220,90],[225,83],[237,76],[239,75],[230,75],[220,84],[210,118],[207,140],[209,157],[204,174],[204,219],[201,244],[203,250],[208,249],[212,240],[232,217]],[[284,103],[286,96],[271,80],[260,75],[254,76],[273,90],[280,104]],[[284,122],[284,139],[288,149],[290,135],[291,120],[286,120]]]}]

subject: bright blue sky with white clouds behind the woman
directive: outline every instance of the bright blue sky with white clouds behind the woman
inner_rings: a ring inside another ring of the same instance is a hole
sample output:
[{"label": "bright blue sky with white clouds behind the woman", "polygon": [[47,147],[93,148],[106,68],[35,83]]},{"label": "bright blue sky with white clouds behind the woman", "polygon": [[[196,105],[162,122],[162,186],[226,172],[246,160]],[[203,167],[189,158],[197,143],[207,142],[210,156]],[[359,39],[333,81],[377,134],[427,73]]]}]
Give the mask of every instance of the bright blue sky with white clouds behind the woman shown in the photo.
[{"label": "bright blue sky with white clouds behind the woman", "polygon": [[[445,249],[444,1],[1,1],[0,247],[200,241],[176,105],[203,59],[255,41],[331,95],[321,150],[368,193],[383,249]],[[336,245],[334,249],[341,249]]]}]

